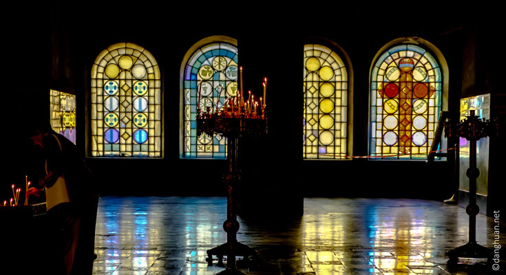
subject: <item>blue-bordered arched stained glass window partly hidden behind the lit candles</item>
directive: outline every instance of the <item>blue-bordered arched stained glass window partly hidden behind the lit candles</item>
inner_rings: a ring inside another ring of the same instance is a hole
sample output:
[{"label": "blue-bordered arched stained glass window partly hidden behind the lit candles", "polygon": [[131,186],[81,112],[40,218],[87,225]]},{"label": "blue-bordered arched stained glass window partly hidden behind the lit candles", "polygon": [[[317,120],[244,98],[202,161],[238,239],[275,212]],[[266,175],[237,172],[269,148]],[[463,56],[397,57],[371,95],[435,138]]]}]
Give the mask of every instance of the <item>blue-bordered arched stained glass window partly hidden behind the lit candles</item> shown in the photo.
[{"label": "blue-bordered arched stained glass window partly hidden behind the lit candles", "polygon": [[204,45],[189,58],[183,72],[183,157],[226,158],[226,138],[197,136],[196,115],[197,108],[220,109],[237,95],[238,70],[238,50],[230,43]]}]

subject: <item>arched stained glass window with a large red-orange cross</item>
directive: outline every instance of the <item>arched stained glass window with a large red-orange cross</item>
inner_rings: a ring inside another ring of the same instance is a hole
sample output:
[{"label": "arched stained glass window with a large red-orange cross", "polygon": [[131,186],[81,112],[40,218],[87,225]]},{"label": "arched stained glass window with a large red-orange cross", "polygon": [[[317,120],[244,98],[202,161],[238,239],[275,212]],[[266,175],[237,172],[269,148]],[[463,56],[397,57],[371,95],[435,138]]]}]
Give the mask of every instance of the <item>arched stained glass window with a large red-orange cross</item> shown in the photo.
[{"label": "arched stained glass window with a large red-orange cross", "polygon": [[370,154],[426,159],[441,111],[441,69],[430,52],[398,45],[383,52],[371,73]]}]

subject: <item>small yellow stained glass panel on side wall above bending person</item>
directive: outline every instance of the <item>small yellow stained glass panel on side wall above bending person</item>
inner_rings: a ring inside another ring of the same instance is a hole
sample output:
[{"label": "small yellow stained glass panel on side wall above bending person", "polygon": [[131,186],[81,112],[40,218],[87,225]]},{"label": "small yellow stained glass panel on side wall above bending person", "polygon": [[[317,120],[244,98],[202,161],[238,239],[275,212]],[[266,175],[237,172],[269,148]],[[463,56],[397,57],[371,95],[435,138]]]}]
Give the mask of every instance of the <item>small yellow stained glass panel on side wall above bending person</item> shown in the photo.
[{"label": "small yellow stained glass panel on side wall above bending person", "polygon": [[56,133],[76,143],[76,96],[50,90],[50,120]]}]

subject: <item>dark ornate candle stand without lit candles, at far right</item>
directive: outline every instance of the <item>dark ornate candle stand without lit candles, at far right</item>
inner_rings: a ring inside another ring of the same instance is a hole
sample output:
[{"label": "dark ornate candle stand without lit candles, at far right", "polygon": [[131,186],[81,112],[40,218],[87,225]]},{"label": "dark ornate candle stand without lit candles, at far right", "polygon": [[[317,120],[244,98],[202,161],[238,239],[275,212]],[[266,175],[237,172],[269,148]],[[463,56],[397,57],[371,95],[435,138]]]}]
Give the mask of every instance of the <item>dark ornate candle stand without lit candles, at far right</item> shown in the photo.
[{"label": "dark ornate candle stand without lit candles, at far right", "polygon": [[476,179],[480,171],[476,168],[476,142],[482,137],[497,135],[498,122],[496,120],[480,120],[474,115],[474,110],[470,110],[467,119],[461,120],[457,124],[451,122],[445,123],[446,137],[464,137],[470,142],[470,160],[466,175],[469,177],[469,205],[465,212],[469,215],[469,242],[461,247],[454,248],[447,252],[450,265],[458,263],[458,259],[491,259],[492,251],[476,243],[476,214],[480,211],[476,205]]}]

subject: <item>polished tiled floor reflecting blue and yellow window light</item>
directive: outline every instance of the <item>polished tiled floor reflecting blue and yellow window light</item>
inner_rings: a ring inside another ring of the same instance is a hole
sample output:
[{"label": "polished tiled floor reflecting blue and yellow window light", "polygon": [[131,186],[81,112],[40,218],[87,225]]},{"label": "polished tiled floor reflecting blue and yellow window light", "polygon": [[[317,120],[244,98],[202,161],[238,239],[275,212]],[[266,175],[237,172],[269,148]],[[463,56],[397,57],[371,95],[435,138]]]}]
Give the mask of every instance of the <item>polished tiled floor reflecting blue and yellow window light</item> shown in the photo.
[{"label": "polished tiled floor reflecting blue and yellow window light", "polygon": [[[505,213],[506,214],[506,213]],[[216,274],[206,251],[226,241],[224,197],[102,197],[94,274]],[[445,252],[467,243],[463,208],[415,199],[304,199],[297,219],[239,219],[238,241],[260,252],[246,274],[505,274],[451,269]],[[494,225],[478,215],[476,241],[493,247]],[[243,261],[244,262],[244,261]]]}]

